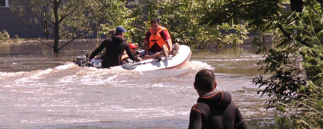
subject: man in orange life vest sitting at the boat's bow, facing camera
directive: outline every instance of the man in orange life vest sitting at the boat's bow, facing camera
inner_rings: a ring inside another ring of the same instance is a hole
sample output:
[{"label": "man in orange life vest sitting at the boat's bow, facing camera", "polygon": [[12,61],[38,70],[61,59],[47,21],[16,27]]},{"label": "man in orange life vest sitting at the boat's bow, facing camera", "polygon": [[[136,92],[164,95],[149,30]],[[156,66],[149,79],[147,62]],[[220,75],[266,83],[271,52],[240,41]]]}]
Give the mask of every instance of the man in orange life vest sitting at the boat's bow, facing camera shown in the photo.
[{"label": "man in orange life vest sitting at the boat's bow, facing camera", "polygon": [[[163,49],[167,52],[164,53]],[[179,44],[175,44],[174,48],[172,46],[172,39],[168,33],[167,28],[159,25],[159,19],[151,20],[151,28],[145,35],[144,41],[145,52],[141,53],[142,56],[155,57],[157,55],[164,54],[164,56],[177,54],[179,50]]]}]

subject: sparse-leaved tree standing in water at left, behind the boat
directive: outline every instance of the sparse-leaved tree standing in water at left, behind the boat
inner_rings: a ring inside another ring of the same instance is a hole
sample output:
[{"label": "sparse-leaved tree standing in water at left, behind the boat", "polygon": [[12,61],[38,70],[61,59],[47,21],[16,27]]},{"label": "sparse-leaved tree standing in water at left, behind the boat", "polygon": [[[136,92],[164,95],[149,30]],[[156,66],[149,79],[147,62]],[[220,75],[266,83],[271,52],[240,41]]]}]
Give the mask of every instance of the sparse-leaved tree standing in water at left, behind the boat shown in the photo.
[{"label": "sparse-leaved tree standing in water at left, behind the boat", "polygon": [[[10,7],[27,33],[52,47],[54,53],[58,53],[75,39],[92,34],[100,22],[119,15],[118,11],[109,9],[111,6],[120,5],[119,3],[117,0],[13,0]],[[26,12],[32,13],[35,19],[23,19]],[[35,27],[35,24],[44,28]],[[27,31],[25,26],[53,37],[54,45],[45,43],[38,35]],[[68,40],[61,43],[61,39]]]}]

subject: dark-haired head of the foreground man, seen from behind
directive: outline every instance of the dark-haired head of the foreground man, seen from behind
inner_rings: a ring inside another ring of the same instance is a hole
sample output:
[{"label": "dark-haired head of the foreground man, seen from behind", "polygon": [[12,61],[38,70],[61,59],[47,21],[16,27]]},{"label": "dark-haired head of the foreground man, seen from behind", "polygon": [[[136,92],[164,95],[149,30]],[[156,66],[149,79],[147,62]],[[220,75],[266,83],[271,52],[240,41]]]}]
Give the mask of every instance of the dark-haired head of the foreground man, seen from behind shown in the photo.
[{"label": "dark-haired head of the foreground man, seen from behind", "polygon": [[202,69],[195,75],[195,85],[200,91],[213,91],[215,85],[215,75],[211,70]]}]

